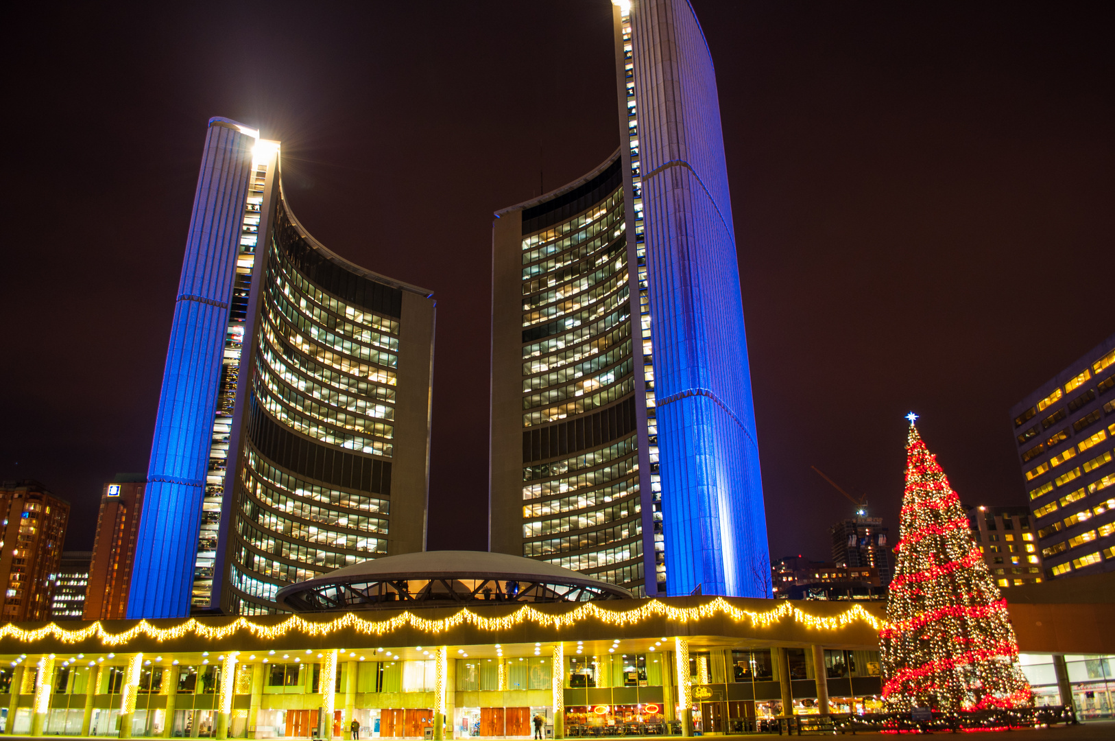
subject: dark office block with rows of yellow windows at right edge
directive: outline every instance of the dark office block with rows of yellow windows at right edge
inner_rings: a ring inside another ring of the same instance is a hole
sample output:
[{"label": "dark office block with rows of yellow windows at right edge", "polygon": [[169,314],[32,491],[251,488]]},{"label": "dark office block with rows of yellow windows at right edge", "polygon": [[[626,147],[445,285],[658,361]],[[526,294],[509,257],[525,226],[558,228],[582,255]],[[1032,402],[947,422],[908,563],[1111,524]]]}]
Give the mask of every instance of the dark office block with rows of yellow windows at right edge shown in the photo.
[{"label": "dark office block with rows of yellow windows at right edge", "polygon": [[1115,335],[1010,418],[1045,577],[1115,570]]}]

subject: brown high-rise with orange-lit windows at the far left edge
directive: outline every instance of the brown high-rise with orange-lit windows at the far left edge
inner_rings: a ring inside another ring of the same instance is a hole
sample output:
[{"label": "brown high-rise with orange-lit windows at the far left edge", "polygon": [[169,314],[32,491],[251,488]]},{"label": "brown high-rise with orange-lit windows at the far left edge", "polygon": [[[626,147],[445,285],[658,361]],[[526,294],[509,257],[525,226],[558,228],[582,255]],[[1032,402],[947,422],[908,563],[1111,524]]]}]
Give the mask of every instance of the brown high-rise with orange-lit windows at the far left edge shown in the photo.
[{"label": "brown high-rise with orange-lit windows at the far left edge", "polygon": [[38,481],[0,483],[0,584],[4,586],[0,620],[22,623],[50,618],[55,576],[62,557],[69,502]]}]

